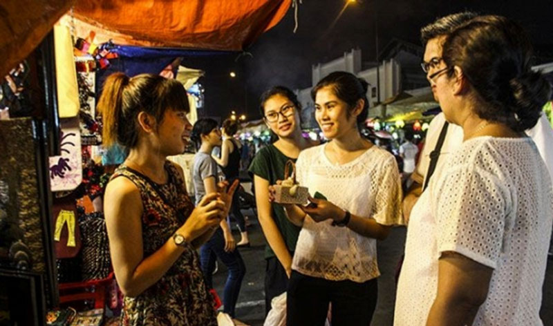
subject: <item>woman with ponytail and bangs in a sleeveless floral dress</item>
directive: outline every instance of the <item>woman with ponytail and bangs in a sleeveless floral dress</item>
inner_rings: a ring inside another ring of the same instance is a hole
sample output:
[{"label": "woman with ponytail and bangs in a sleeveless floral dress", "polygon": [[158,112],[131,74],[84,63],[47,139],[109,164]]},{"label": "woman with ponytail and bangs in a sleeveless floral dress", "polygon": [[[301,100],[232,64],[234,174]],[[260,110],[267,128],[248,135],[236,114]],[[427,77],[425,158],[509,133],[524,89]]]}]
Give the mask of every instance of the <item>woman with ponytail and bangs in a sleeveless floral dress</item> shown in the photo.
[{"label": "woman with ponytail and bangs in a sleeveless floral dress", "polygon": [[[109,182],[104,212],[123,325],[217,325],[198,248],[229,211],[236,185],[194,208],[180,166],[191,124],[185,89],[158,75],[108,77],[98,108],[104,144],[129,148]],[[223,186],[223,185],[222,185]]]}]

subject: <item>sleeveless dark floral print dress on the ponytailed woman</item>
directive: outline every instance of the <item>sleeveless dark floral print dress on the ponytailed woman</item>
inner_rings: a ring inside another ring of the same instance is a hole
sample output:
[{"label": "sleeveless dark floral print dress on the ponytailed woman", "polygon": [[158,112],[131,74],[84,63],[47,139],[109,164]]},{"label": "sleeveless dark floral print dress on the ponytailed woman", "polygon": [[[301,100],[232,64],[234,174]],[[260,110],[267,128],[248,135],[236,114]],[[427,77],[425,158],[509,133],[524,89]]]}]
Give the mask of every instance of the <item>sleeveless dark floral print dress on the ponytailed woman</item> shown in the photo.
[{"label": "sleeveless dark floral print dress on the ponytailed woman", "polygon": [[[167,161],[165,169],[166,184],[156,184],[124,165],[111,178],[128,178],[140,189],[144,258],[162,247],[194,209],[176,167]],[[122,325],[216,326],[212,303],[198,253],[189,245],[158,282],[135,298],[124,298]]]}]

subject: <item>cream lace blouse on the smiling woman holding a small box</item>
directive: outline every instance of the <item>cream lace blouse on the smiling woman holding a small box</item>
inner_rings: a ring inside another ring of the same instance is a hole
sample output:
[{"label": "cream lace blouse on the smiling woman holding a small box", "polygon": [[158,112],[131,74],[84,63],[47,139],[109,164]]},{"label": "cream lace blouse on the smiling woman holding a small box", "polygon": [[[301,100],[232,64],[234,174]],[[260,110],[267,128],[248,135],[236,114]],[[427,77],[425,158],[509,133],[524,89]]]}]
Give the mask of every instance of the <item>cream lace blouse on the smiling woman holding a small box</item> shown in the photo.
[{"label": "cream lace blouse on the smiling woman holding a small box", "polygon": [[[297,179],[350,213],[373,218],[379,224],[403,224],[400,175],[393,155],[372,146],[347,164],[334,165],[319,145],[302,151],[296,163]],[[309,216],[299,233],[292,269],[327,280],[365,282],[379,276],[376,240],[331,221]]]}]

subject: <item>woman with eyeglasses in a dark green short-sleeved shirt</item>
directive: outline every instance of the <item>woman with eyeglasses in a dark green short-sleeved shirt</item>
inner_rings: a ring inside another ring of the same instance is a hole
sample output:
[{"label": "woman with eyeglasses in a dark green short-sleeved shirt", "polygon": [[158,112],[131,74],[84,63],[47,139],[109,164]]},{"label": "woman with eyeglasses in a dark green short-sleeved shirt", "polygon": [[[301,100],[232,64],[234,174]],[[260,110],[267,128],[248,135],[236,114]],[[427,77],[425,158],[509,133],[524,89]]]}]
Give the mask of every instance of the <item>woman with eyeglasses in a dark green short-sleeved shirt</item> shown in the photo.
[{"label": "woman with eyeglasses in a dark green short-sleeved shirt", "polygon": [[303,138],[300,128],[301,105],[292,90],[275,86],[261,95],[260,111],[265,124],[278,140],[261,148],[250,164],[259,223],[265,234],[265,313],[271,300],[286,291],[292,272],[292,256],[300,228],[292,224],[278,204],[269,202],[269,186],[284,178],[288,160],[295,162],[299,152],[314,146]]}]

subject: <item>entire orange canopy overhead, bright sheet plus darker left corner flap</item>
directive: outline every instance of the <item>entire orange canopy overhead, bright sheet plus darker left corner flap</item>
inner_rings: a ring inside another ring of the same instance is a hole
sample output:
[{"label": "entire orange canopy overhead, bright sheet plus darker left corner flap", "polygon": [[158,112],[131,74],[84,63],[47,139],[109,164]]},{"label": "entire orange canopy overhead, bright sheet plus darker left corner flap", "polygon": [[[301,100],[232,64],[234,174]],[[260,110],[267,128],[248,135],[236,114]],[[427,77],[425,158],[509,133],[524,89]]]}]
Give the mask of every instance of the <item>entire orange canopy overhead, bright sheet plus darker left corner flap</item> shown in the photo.
[{"label": "entire orange canopy overhead, bright sheet plus darker left corner flap", "polygon": [[[75,0],[1,1],[0,76],[27,57],[73,3]],[[74,11],[75,17],[98,28],[97,32],[106,32],[124,44],[242,50],[275,26],[291,3],[292,0],[79,0]]]}]

